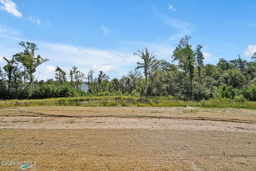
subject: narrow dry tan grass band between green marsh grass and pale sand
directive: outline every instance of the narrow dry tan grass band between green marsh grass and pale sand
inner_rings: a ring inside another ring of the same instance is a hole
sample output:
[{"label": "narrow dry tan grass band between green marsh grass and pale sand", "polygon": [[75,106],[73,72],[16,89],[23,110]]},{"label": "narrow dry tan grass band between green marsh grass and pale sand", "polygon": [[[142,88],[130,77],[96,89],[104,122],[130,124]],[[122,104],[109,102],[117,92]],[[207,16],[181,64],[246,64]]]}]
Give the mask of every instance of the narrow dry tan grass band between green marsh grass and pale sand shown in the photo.
[{"label": "narrow dry tan grass band between green marsh grass and pale sand", "polygon": [[181,119],[256,122],[256,111],[249,109],[205,109],[183,107],[22,107],[0,109],[0,116],[59,117],[170,117]]}]

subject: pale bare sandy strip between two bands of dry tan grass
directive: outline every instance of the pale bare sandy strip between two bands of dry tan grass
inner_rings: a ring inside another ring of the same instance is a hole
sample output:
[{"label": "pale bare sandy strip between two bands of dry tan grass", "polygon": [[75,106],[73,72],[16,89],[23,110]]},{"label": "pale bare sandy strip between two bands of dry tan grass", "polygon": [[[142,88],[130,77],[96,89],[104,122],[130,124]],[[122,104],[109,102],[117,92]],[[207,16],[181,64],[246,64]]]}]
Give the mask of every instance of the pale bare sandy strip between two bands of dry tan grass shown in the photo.
[{"label": "pale bare sandy strip between two bands of dry tan grass", "polygon": [[118,117],[0,117],[0,128],[20,129],[176,129],[211,130],[256,133],[256,124],[230,121],[189,120],[169,118],[118,118]]}]

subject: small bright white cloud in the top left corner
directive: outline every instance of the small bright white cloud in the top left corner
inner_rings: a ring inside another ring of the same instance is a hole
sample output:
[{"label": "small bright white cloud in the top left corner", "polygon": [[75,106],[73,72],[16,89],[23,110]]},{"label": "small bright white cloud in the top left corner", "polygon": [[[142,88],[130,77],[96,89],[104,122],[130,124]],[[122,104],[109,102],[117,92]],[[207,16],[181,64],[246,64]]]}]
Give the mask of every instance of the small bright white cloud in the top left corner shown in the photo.
[{"label": "small bright white cloud in the top left corner", "polygon": [[22,17],[22,14],[18,11],[18,6],[11,0],[0,0],[0,3],[3,4],[3,6],[0,6],[1,10],[5,10],[15,17]]}]

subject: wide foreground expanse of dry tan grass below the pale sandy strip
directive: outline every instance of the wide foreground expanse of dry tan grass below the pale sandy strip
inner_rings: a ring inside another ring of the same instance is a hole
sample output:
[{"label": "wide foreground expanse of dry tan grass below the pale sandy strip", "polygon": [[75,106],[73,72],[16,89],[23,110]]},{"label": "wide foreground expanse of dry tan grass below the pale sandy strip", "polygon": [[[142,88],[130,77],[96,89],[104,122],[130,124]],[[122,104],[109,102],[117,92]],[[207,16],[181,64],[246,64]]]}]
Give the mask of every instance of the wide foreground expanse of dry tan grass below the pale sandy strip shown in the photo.
[{"label": "wide foreground expanse of dry tan grass below the pale sandy strip", "polygon": [[[221,141],[220,141],[221,140]],[[255,170],[256,135],[148,129],[1,129],[1,160],[30,170]],[[14,170],[18,166],[0,166]]]}]

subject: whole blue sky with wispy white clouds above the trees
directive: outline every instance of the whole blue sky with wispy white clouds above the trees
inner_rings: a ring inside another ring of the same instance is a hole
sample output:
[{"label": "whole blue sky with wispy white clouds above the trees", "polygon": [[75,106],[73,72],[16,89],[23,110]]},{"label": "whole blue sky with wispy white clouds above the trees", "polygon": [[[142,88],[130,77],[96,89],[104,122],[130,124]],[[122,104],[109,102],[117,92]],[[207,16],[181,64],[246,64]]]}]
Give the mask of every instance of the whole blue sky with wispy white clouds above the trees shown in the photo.
[{"label": "whole blue sky with wispy white clouds above the trees", "polygon": [[[0,0],[0,56],[34,42],[50,61],[38,68],[39,79],[54,78],[59,66],[87,72],[126,75],[139,61],[133,52],[148,47],[171,61],[179,39],[203,45],[205,63],[256,52],[256,1],[32,1]],[[0,66],[4,62],[0,59]],[[40,74],[39,74],[40,73]]]}]

